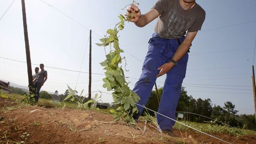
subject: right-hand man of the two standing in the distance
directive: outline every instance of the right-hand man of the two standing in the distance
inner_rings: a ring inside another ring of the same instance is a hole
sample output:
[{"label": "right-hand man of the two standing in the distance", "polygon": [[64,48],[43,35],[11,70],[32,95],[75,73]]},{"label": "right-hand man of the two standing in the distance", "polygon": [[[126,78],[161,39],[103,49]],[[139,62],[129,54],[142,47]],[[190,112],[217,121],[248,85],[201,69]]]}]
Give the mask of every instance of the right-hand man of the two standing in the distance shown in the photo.
[{"label": "right-hand man of the two standing in the distance", "polygon": [[45,81],[47,80],[47,71],[44,70],[44,64],[40,64],[40,69],[41,71],[39,72],[37,78],[35,79],[36,83],[34,86],[34,89],[36,91],[35,94],[35,101],[38,102],[39,99],[39,94],[40,94],[40,89],[44,85]]}]

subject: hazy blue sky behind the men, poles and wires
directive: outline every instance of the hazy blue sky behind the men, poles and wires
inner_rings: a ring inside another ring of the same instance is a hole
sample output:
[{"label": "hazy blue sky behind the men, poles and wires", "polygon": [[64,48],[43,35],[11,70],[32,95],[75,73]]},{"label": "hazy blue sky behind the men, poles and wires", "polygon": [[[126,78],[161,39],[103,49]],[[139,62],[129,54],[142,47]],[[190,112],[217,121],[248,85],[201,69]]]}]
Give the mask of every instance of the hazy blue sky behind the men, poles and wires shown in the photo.
[{"label": "hazy blue sky behind the men, poles and wires", "polygon": [[[0,1],[0,17],[13,0]],[[46,3],[50,4],[47,5]],[[26,0],[29,44],[32,63],[71,70],[89,71],[89,29],[92,34],[92,73],[103,74],[99,65],[105,59],[102,47],[95,43],[118,22],[117,15],[132,1],[86,0]],[[137,1],[142,13],[156,1]],[[194,98],[210,98],[213,105],[231,101],[239,114],[253,114],[252,65],[256,39],[256,1],[215,0],[196,1],[206,11],[202,30],[197,34],[183,81],[186,91]],[[52,6],[54,5],[54,6]],[[59,10],[59,11],[58,11]],[[61,12],[62,13],[61,13]],[[63,14],[64,13],[64,14]],[[66,14],[66,15],[65,15]],[[69,17],[69,18],[68,18]],[[71,19],[70,19],[71,18]],[[119,33],[128,66],[125,74],[134,84],[140,76],[147,42],[154,33],[156,21],[138,28],[125,23]],[[85,57],[83,60],[83,55]],[[0,20],[0,57],[26,61],[21,2],[16,0]],[[81,63],[83,64],[81,67]],[[35,66],[33,65],[33,69]],[[28,85],[26,63],[0,58],[0,79]],[[78,73],[45,68],[49,79],[42,90],[64,93],[67,84],[75,88]],[[88,74],[79,75],[77,91],[88,91]],[[92,75],[92,91],[106,90],[100,81],[103,75]],[[162,87],[165,76],[157,79]],[[130,88],[133,88],[130,84]],[[103,94],[103,102],[111,95]]]}]

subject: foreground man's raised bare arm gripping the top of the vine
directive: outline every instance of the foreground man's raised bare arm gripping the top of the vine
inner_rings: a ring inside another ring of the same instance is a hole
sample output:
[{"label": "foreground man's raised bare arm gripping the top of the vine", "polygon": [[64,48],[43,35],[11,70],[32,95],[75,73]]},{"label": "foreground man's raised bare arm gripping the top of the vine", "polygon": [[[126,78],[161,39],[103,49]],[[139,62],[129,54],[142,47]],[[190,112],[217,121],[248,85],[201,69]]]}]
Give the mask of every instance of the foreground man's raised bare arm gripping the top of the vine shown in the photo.
[{"label": "foreground man's raised bare arm gripping the top of the vine", "polygon": [[[156,9],[151,9],[146,14],[141,14],[140,9],[132,4],[131,7],[127,9],[127,12],[132,13],[133,11],[135,11],[135,17],[131,18],[130,21],[134,22],[138,27],[146,26],[160,15]],[[127,16],[128,14],[125,15]]]}]

